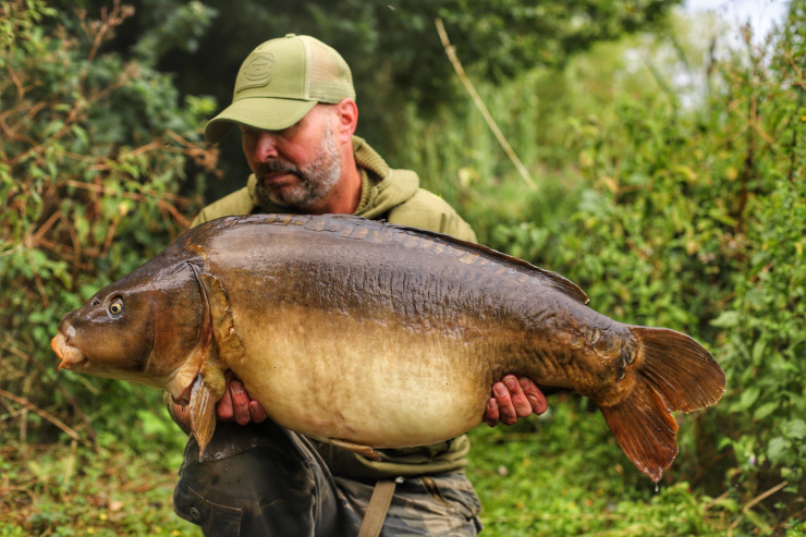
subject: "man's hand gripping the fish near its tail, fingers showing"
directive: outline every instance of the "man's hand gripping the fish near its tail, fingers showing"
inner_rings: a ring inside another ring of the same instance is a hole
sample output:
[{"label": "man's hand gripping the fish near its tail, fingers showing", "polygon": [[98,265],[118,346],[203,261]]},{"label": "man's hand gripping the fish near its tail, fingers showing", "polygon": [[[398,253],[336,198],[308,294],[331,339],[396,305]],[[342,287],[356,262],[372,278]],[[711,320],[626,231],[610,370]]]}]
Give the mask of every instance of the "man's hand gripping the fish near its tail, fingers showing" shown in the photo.
[{"label": "man's hand gripping the fish near its tail, fingers showing", "polygon": [[492,385],[492,396],[487,401],[485,423],[490,427],[499,423],[514,425],[520,417],[542,414],[548,408],[546,395],[529,378],[520,380],[514,375],[506,375],[500,382]]}]

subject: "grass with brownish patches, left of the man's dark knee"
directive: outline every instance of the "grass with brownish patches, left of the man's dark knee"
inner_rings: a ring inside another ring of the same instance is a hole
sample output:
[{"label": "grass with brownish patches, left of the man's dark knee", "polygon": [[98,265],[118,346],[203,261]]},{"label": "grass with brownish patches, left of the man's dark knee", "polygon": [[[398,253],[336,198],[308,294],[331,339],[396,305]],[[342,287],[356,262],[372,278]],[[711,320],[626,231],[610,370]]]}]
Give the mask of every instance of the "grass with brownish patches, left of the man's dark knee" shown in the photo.
[{"label": "grass with brownish patches, left of the man's dark knee", "polygon": [[0,537],[200,535],[171,507],[181,453],[125,443],[0,449]]}]

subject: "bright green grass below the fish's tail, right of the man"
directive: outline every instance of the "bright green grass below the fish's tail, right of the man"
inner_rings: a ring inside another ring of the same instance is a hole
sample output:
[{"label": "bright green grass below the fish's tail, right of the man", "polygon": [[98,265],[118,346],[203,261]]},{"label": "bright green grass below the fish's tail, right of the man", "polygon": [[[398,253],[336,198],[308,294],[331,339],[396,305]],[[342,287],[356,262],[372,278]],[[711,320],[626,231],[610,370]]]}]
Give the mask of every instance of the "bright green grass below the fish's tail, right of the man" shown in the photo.
[{"label": "bright green grass below the fish's tail, right of the man", "polygon": [[573,398],[551,403],[545,418],[472,431],[468,476],[485,535],[731,535],[730,500],[691,492],[675,481],[674,466],[656,487],[621,453],[598,412]]}]

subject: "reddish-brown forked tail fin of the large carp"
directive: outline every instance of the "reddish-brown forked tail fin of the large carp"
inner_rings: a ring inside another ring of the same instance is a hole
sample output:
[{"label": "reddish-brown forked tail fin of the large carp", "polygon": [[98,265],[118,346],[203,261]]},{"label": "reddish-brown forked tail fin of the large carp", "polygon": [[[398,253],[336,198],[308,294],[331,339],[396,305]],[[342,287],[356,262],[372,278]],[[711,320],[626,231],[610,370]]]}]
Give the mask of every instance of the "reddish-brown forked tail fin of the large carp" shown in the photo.
[{"label": "reddish-brown forked tail fin of the large carp", "polygon": [[630,327],[636,340],[635,386],[599,408],[619,446],[656,483],[677,454],[674,411],[693,412],[722,396],[722,368],[703,345],[674,330]]}]

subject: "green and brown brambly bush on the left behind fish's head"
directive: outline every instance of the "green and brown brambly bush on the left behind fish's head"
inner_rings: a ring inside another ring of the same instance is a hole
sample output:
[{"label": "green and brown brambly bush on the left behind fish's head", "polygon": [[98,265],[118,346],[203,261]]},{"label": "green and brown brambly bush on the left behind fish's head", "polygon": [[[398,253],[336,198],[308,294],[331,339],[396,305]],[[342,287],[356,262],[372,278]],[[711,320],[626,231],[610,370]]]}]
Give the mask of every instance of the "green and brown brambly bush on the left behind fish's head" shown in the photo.
[{"label": "green and brown brambly bush on the left behind fish's head", "polygon": [[[0,48],[0,389],[41,412],[0,419],[19,422],[22,442],[60,434],[100,441],[98,430],[134,427],[144,429],[132,436],[137,449],[156,438],[181,448],[175,430],[157,425],[168,419],[158,392],[57,374],[48,342],[62,314],[186,227],[197,202],[176,193],[196,179],[188,164],[215,163],[216,154],[197,145],[211,103],[180,103],[167,75],[105,51],[126,8],[97,21],[62,13],[64,25],[40,1],[1,10],[10,37]],[[15,429],[0,434],[5,444]]]}]

